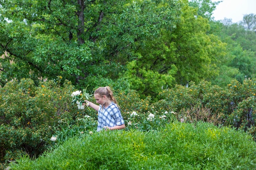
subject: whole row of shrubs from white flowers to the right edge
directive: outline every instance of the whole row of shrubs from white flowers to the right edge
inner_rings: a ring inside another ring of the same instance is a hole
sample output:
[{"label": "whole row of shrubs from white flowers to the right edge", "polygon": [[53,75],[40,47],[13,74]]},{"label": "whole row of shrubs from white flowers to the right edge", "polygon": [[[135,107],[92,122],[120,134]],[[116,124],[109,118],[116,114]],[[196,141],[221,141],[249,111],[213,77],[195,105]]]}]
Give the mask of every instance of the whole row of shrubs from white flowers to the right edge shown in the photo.
[{"label": "whole row of shrubs from white flowers to the right edge", "polygon": [[161,108],[177,112],[177,119],[243,129],[256,138],[255,110],[256,79],[243,84],[233,81],[223,89],[209,82],[191,82],[188,88],[176,85],[159,93]]}]

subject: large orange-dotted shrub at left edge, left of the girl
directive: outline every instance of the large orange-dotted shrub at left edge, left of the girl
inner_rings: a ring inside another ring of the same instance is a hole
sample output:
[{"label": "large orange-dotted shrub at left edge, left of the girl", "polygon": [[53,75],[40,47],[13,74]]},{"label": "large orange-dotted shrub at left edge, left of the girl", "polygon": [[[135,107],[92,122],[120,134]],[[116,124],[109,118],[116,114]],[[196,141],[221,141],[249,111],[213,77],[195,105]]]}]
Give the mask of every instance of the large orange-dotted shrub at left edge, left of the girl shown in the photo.
[{"label": "large orange-dotted shrub at left edge, left of the girl", "polygon": [[74,86],[60,82],[58,77],[35,86],[31,79],[21,79],[0,88],[1,163],[23,154],[37,157],[51,142],[58,120],[78,115],[70,104]]}]

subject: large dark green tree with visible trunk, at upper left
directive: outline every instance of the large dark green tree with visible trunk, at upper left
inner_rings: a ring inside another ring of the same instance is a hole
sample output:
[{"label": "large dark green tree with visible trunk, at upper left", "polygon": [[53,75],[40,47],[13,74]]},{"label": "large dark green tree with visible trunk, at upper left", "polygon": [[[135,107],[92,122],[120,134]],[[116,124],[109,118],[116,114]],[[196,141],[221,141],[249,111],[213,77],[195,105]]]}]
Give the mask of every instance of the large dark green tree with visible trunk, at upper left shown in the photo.
[{"label": "large dark green tree with visible trunk, at upper left", "polygon": [[80,86],[117,79],[132,51],[173,29],[180,13],[171,0],[11,0],[0,10],[1,81],[61,75]]}]

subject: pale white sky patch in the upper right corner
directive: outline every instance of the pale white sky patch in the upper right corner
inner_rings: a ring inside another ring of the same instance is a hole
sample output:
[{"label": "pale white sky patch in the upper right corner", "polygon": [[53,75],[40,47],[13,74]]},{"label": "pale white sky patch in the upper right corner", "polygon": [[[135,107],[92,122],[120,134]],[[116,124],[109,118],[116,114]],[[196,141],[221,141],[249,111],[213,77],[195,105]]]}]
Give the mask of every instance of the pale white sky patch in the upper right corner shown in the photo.
[{"label": "pale white sky patch in the upper right corner", "polygon": [[[216,2],[219,0],[212,0]],[[246,14],[256,14],[256,0],[222,0],[213,11],[214,20],[232,19],[233,23],[243,20]]]}]

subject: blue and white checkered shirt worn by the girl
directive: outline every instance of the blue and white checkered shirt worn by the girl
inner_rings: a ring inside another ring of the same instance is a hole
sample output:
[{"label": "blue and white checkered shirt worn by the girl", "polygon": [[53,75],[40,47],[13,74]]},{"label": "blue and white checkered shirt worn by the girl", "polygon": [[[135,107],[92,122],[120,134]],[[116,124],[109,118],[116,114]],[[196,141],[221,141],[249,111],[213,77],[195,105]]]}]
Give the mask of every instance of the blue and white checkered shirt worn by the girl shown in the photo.
[{"label": "blue and white checkered shirt worn by the girl", "polygon": [[124,119],[121,115],[120,109],[117,107],[117,104],[111,102],[107,108],[99,105],[97,132],[102,130],[104,126],[114,127],[122,124],[124,124]]}]

